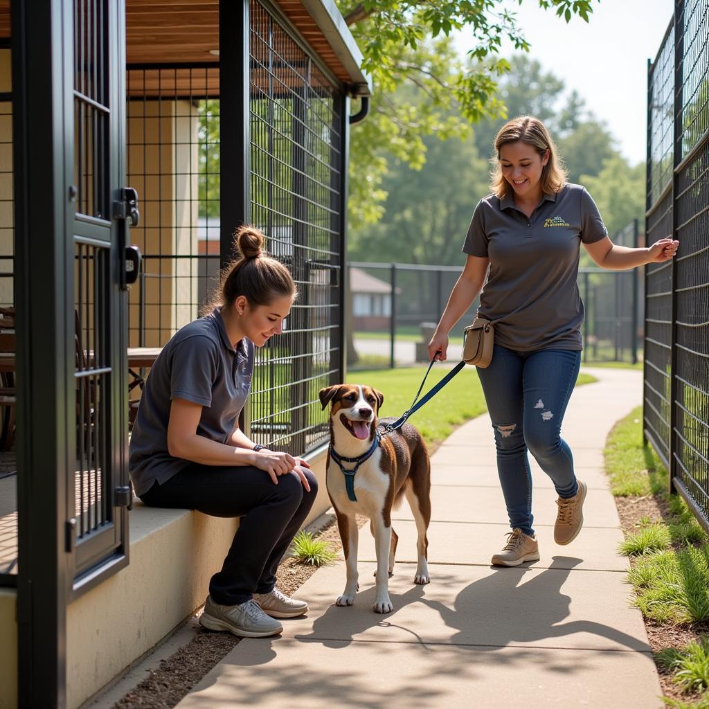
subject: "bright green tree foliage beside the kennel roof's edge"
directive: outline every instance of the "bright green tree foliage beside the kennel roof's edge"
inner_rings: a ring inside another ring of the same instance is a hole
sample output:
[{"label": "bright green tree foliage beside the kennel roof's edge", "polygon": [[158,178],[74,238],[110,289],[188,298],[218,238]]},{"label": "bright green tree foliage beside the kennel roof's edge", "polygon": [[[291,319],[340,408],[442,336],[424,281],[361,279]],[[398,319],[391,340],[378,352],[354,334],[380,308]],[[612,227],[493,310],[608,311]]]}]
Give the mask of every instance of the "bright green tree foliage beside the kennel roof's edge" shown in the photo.
[{"label": "bright green tree foliage beside the kennel roof's edge", "polygon": [[[588,21],[592,11],[591,0],[538,2],[567,22],[574,14]],[[503,41],[523,52],[530,45],[515,13],[497,0],[339,0],[337,5],[374,86],[370,116],[352,129],[350,221],[359,227],[383,213],[381,184],[392,157],[418,169],[425,162],[425,136],[465,135],[470,123],[506,118],[496,94],[498,79],[510,69],[500,57]],[[457,32],[469,40],[465,60],[452,43]]]}]

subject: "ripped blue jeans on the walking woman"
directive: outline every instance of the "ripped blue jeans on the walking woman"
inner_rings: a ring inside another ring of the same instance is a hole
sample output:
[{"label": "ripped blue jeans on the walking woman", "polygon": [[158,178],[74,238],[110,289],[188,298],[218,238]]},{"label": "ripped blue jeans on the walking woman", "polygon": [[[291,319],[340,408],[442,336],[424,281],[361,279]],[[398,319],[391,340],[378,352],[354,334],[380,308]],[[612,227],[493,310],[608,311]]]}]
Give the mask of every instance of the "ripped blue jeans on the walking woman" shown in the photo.
[{"label": "ripped blue jeans on the walking woman", "polygon": [[510,526],[534,534],[532,474],[527,450],[552,479],[559,497],[578,491],[574,457],[561,437],[562,420],[581,367],[581,352],[516,352],[495,345],[477,369],[497,449],[497,469]]}]

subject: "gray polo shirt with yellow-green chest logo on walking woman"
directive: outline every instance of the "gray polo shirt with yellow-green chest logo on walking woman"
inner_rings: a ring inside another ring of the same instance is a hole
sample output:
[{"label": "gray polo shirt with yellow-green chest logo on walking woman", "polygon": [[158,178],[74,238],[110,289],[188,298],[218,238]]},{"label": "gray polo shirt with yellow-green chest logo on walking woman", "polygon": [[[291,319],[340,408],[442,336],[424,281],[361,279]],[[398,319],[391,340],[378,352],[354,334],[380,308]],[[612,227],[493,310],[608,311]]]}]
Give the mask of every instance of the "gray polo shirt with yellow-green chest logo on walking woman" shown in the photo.
[{"label": "gray polo shirt with yellow-green chest logo on walking woman", "polygon": [[463,251],[490,259],[479,313],[497,320],[495,342],[510,350],[581,350],[581,242],[608,234],[586,189],[545,194],[527,218],[512,196],[491,194],[473,213]]}]

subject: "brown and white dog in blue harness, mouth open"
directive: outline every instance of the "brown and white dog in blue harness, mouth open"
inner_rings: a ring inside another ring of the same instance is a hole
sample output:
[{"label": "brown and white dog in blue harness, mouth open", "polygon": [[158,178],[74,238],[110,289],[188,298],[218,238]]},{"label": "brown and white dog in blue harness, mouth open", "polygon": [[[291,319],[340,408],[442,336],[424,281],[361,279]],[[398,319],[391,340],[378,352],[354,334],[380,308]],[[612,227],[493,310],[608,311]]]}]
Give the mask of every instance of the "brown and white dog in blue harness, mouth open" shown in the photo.
[{"label": "brown and white dog in blue harness, mouth open", "polygon": [[[391,510],[401,497],[411,506],[418,530],[418,566],[414,582],[428,584],[426,530],[431,518],[430,460],[418,430],[405,423],[400,429],[381,437],[371,456],[359,464],[354,475],[354,502],[347,495],[345,475],[333,459],[358,459],[374,446],[377,413],[384,395],[370,386],[336,384],[320,389],[320,403],[330,408],[330,450],[328,451],[327,486],[337,515],[342,549],[347,562],[347,584],[337,605],[352,605],[359,591],[357,574],[357,522],[354,515],[364,515],[376,545],[376,613],[393,610],[389,598],[389,576],[393,573],[398,537],[391,528]],[[393,421],[383,419],[382,423]],[[342,462],[351,470],[355,462]]]}]

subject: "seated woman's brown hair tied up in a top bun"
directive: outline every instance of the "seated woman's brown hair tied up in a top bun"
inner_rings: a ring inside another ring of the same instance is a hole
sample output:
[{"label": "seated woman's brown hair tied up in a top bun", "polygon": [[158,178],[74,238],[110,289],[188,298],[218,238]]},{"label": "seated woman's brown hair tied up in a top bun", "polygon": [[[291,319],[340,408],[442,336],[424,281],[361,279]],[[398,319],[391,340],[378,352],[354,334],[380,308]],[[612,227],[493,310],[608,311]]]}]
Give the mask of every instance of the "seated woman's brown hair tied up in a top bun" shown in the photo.
[{"label": "seated woman's brown hair tied up in a top bun", "polygon": [[264,250],[264,233],[252,225],[240,226],[234,232],[234,245],[240,258],[223,270],[218,289],[201,313],[211,313],[218,306],[233,306],[239,296],[245,296],[250,306],[265,306],[279,296],[298,295],[291,272]]}]

